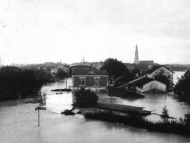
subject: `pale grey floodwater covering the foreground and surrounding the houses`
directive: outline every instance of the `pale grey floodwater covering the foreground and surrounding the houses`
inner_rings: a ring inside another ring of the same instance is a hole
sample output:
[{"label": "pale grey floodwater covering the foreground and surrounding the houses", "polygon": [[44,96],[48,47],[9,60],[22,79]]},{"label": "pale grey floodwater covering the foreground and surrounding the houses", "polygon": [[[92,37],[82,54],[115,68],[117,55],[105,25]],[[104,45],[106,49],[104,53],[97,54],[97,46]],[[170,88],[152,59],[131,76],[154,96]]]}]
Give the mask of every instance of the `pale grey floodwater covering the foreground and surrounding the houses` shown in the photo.
[{"label": "pale grey floodwater covering the foreground and surrounding the houses", "polygon": [[[51,83],[42,88],[46,94],[47,110],[40,111],[38,126],[38,104],[25,103],[25,100],[0,102],[0,142],[2,143],[189,143],[190,138],[165,133],[149,132],[144,129],[86,120],[83,115],[65,116],[60,112],[72,108],[72,93],[56,94],[51,89],[65,88],[65,82]],[[71,85],[71,79],[68,80]],[[59,85],[59,86],[58,86]],[[59,93],[59,92],[57,92]],[[167,106],[169,114],[176,118],[183,116],[190,108],[178,103],[168,95],[147,95],[144,99],[129,100],[99,94],[101,102],[143,106],[160,113]],[[156,116],[156,115],[155,115]],[[150,119],[157,119],[150,117]]]}]

